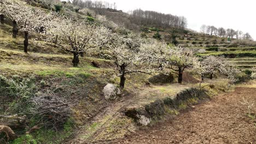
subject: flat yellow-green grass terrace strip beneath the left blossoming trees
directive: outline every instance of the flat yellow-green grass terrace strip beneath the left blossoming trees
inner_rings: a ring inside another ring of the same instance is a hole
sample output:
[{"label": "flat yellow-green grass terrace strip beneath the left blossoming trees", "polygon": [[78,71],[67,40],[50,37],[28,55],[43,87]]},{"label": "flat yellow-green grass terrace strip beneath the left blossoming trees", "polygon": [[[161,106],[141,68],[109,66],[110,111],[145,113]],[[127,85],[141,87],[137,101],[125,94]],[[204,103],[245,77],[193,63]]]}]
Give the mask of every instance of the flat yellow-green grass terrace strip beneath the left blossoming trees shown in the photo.
[{"label": "flat yellow-green grass terrace strip beneath the left blossoming trees", "polygon": [[93,73],[102,73],[112,68],[95,68],[90,62],[96,61],[100,65],[111,65],[112,61],[93,57],[80,58],[78,68],[72,66],[72,55],[56,55],[53,53],[24,53],[20,50],[0,48],[0,70],[10,75],[36,74],[39,76],[66,76],[80,75],[88,77]]}]

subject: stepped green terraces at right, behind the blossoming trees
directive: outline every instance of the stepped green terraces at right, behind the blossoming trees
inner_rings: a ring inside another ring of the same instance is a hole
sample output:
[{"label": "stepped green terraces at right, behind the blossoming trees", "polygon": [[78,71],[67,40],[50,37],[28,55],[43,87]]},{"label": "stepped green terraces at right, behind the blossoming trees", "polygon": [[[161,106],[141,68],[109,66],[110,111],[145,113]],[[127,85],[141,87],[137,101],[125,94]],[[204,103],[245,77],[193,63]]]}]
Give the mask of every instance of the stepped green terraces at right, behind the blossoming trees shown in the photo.
[{"label": "stepped green terraces at right, behind the blossoming trees", "polygon": [[[249,45],[233,44],[228,42],[228,38],[219,38],[214,35],[202,35],[184,29],[161,29],[151,27],[142,29],[142,32],[146,34],[147,37],[153,37],[156,31],[159,31],[159,34],[166,43],[171,43],[171,33],[172,31],[176,31],[178,44],[199,47],[206,50],[206,52],[201,53],[200,56],[223,55],[242,70],[256,67],[256,46],[254,42]],[[235,39],[232,39],[232,41],[235,41]]]}]

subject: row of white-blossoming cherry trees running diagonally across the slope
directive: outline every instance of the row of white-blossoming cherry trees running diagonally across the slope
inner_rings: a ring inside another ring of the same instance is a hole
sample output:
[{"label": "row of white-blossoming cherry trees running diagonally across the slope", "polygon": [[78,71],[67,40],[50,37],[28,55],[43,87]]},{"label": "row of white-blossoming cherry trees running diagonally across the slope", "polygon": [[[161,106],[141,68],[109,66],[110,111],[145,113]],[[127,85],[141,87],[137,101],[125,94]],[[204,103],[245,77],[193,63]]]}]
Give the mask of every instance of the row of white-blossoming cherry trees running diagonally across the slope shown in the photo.
[{"label": "row of white-blossoming cherry trees running diagonally across the slope", "polygon": [[[196,70],[203,80],[223,73],[234,82],[235,71],[224,57],[197,57],[199,49],[167,45],[165,41],[139,37],[122,26],[108,22],[104,16],[96,21],[67,17],[55,11],[46,13],[20,0],[1,1],[0,16],[13,22],[13,38],[24,32],[24,52],[28,52],[28,34],[37,33],[46,43],[73,54],[73,66],[79,67],[79,56],[108,55],[117,66],[120,87],[131,73],[174,73],[182,83],[184,70]],[[80,10],[81,13],[89,13]]]}]

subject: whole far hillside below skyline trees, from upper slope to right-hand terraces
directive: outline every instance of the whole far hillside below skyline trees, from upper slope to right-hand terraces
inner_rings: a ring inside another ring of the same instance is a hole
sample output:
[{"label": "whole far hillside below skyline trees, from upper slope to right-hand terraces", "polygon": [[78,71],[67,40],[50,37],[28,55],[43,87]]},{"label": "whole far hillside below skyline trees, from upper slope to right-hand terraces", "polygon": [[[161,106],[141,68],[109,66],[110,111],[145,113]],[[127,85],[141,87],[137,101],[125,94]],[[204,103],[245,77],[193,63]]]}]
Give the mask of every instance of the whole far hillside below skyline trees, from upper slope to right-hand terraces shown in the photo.
[{"label": "whole far hillside below skyline trees, from upper slope to right-hand terraces", "polygon": [[[239,40],[232,39],[231,43],[228,38],[220,38],[214,35],[201,34],[198,32],[190,31],[189,29],[180,28],[162,28],[153,26],[138,26],[131,22],[128,14],[118,10],[107,10],[105,15],[114,21],[121,21],[126,23],[126,27],[135,31],[139,31],[143,37],[152,38],[153,35],[159,31],[162,40],[166,43],[172,43],[172,32],[175,31],[179,45],[199,47],[205,49],[206,53],[201,56],[221,56],[224,55],[229,58],[230,62],[234,62],[238,68],[245,70],[248,68],[256,67],[256,44],[254,42],[242,44]],[[130,23],[130,24],[129,24]],[[145,36],[144,36],[145,35]]]}]

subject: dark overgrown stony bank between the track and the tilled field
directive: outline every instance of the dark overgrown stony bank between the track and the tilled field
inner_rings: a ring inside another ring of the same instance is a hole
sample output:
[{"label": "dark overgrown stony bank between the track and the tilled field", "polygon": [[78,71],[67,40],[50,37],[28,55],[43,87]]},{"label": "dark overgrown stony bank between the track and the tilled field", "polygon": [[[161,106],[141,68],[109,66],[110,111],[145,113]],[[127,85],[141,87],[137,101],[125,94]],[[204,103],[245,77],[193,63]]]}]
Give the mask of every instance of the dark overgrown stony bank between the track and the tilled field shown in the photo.
[{"label": "dark overgrown stony bank between the track and the tilled field", "polygon": [[197,88],[188,88],[177,93],[175,97],[157,99],[142,107],[127,108],[126,116],[135,119],[141,125],[148,125],[152,119],[159,119],[163,115],[175,113],[176,110],[184,109],[190,104],[199,103],[200,100],[210,98],[206,91]]}]

